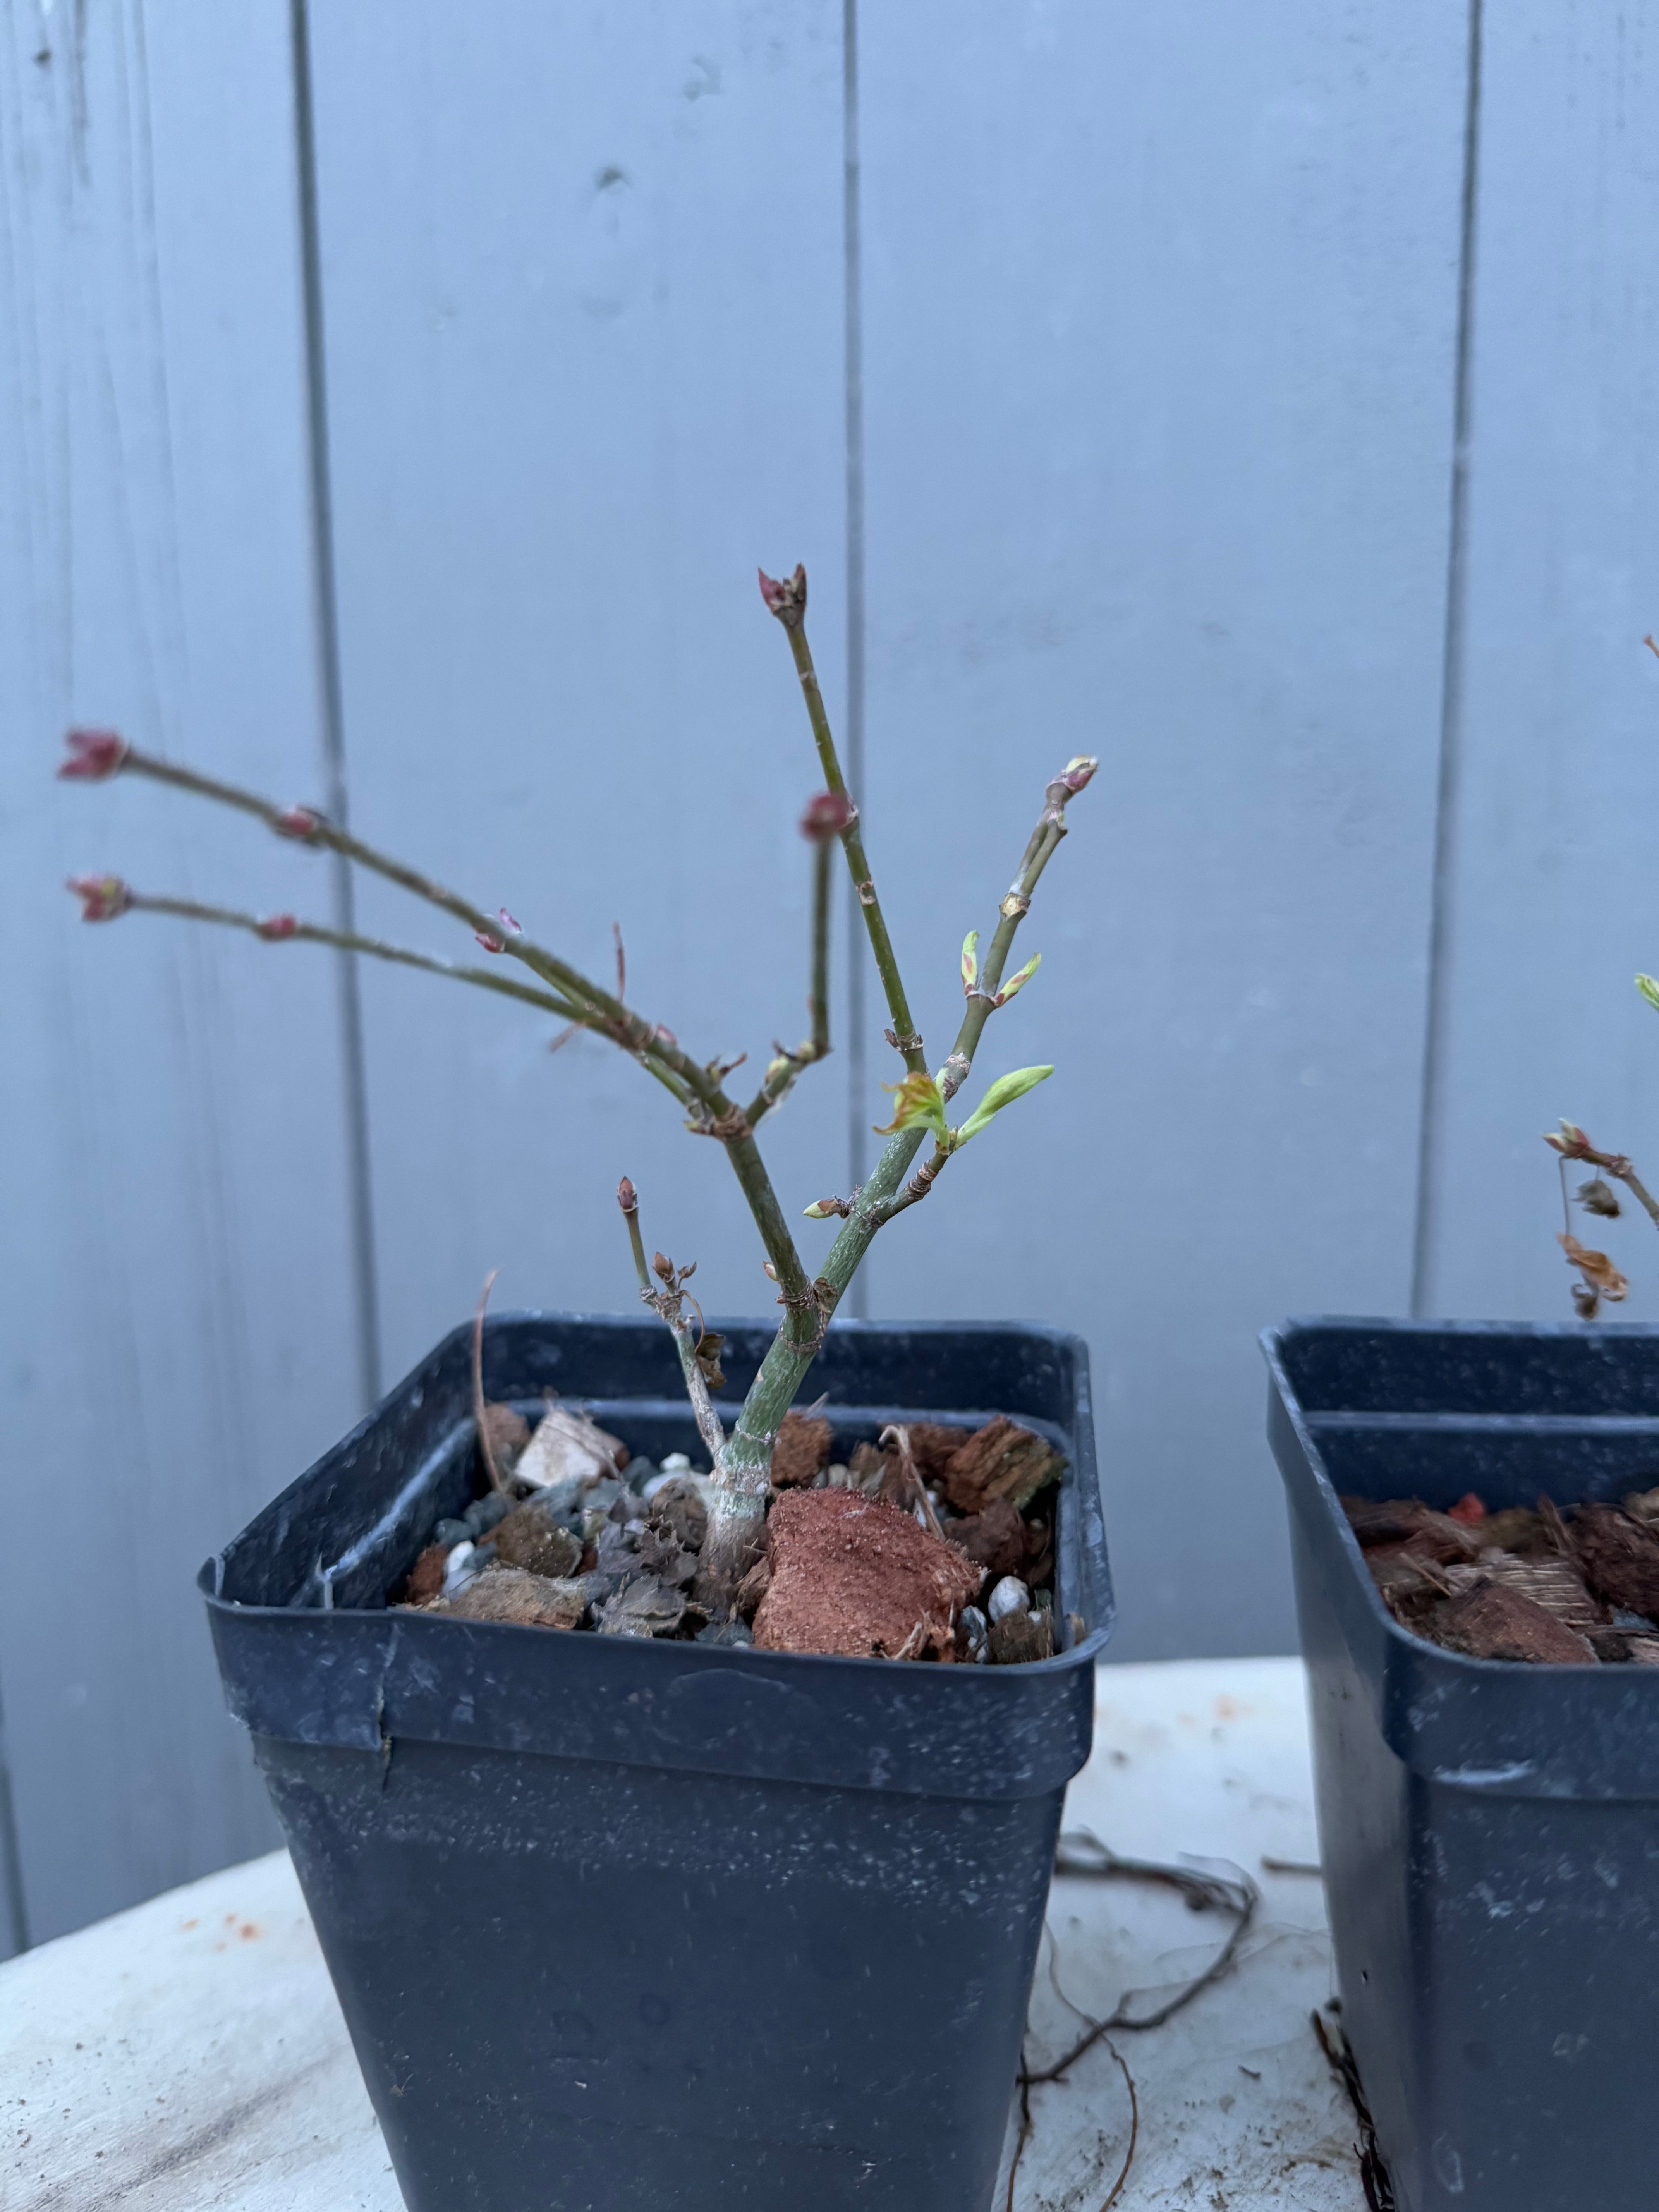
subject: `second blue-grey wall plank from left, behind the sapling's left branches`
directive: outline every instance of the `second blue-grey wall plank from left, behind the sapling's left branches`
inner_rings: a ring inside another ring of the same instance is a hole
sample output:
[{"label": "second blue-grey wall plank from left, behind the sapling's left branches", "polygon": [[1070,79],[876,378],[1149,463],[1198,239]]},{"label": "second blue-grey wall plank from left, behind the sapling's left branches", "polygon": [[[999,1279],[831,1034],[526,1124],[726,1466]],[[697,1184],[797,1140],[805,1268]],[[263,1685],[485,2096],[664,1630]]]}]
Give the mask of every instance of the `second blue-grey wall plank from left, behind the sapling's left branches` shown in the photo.
[{"label": "second blue-grey wall plank from left, behind the sapling's left branches", "polygon": [[[367,0],[316,11],[314,82],[356,823],[599,978],[622,922],[630,1000],[748,1082],[805,1031],[818,783],[757,562],[810,564],[843,666],[841,11]],[[495,1265],[630,1305],[624,1172],[710,1310],[768,1307],[723,1159],[613,1046],[365,993],[387,1374]],[[792,1212],[843,1128],[832,1062],[765,1135]]]}]

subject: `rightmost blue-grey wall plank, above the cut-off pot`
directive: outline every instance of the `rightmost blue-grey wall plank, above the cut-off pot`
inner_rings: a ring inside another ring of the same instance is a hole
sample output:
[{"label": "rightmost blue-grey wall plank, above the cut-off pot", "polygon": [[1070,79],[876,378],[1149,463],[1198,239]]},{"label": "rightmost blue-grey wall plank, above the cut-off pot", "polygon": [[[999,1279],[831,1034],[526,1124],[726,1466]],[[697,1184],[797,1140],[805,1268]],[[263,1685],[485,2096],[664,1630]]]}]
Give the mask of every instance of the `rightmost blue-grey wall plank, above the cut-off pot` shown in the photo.
[{"label": "rightmost blue-grey wall plank, above the cut-off pot", "polygon": [[[1484,49],[1427,1310],[1571,1321],[1540,1130],[1659,1161],[1659,9],[1489,9]],[[1652,1321],[1628,1212],[1575,1225]]]}]

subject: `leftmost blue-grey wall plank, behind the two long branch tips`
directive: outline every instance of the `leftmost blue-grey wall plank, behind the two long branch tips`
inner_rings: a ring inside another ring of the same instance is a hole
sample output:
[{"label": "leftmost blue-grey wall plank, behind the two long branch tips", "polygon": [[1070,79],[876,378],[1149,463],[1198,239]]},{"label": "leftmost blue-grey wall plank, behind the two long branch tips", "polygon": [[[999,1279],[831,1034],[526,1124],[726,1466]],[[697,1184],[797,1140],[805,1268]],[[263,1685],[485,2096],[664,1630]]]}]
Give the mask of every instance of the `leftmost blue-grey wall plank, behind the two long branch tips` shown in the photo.
[{"label": "leftmost blue-grey wall plank, behind the two long branch tips", "polygon": [[[354,1411],[316,958],[62,880],[316,907],[305,854],[53,783],[71,721],[319,779],[281,0],[4,9],[0,1686],[40,1940],[272,1836],[195,1571]],[[33,1548],[31,1548],[33,1546]],[[24,1553],[29,1559],[24,1564]]]}]

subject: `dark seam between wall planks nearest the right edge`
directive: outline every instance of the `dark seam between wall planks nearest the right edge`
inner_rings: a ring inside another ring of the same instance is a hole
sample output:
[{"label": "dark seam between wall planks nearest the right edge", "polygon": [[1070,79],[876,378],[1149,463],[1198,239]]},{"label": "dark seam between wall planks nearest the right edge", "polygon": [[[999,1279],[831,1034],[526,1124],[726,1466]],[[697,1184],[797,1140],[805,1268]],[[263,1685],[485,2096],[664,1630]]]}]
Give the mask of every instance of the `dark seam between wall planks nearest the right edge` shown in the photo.
[{"label": "dark seam between wall planks nearest the right edge", "polygon": [[1480,64],[1484,0],[1469,0],[1469,64],[1462,126],[1462,210],[1458,239],[1458,338],[1451,409],[1451,522],[1447,533],[1447,622],[1440,664],[1440,768],[1429,894],[1429,978],[1418,1104],[1418,1192],[1411,1241],[1411,1314],[1429,1305],[1440,1228],[1438,1139],[1444,1119],[1447,1024],[1451,1015],[1453,898],[1462,799],[1464,653],[1469,633],[1469,445],[1473,431],[1475,248],[1480,228]]}]

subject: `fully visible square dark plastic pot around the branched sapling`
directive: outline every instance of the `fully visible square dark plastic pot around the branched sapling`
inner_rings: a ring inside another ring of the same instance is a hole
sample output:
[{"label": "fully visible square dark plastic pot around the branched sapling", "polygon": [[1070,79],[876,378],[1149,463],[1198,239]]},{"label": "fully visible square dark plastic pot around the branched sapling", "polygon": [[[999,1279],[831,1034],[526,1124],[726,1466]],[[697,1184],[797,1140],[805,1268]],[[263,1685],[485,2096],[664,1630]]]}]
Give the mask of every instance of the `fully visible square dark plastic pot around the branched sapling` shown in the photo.
[{"label": "fully visible square dark plastic pot around the branched sapling", "polygon": [[[770,1327],[728,1325],[732,1400]],[[697,1455],[668,1332],[529,1314],[491,1398]],[[409,2212],[984,2212],[1113,1595],[1088,1356],[836,1323],[836,1453],[1011,1413],[1068,1455],[1057,1657],[922,1666],[387,1610],[473,1493],[458,1329],[204,1568]],[[734,1413],[734,1402],[728,1407]]]}]

